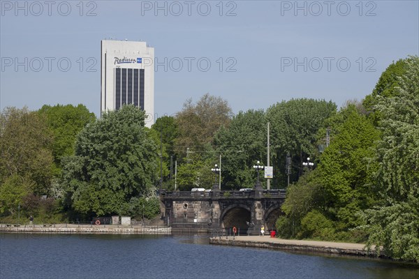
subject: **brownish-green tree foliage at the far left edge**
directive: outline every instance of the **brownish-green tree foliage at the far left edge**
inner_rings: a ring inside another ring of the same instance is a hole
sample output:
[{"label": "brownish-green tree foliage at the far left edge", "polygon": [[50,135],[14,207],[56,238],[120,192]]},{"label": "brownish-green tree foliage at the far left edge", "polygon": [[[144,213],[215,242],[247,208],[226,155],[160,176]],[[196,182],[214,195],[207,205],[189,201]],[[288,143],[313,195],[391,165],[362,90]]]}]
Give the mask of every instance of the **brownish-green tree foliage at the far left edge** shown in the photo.
[{"label": "brownish-green tree foliage at the far left edge", "polygon": [[26,107],[8,107],[0,123],[0,217],[19,221],[37,213],[49,220],[57,204],[43,198],[52,194],[54,168],[45,117]]}]

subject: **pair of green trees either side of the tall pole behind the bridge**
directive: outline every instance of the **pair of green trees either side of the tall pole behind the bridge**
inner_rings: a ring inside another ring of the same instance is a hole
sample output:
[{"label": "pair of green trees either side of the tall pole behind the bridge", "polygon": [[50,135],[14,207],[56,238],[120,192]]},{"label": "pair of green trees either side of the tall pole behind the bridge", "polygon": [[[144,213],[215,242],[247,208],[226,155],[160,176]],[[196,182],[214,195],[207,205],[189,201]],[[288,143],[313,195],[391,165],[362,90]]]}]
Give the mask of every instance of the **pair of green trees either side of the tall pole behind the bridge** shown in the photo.
[{"label": "pair of green trees either side of the tall pole behind the bridge", "polygon": [[256,161],[267,163],[267,122],[270,122],[270,156],[274,167],[274,188],[286,186],[286,155],[292,157],[291,181],[302,174],[303,160],[317,153],[316,133],[325,119],[336,112],[332,102],[313,99],[291,99],[263,110],[239,112],[228,128],[221,128],[214,144],[223,154],[224,181],[228,188],[252,187]]}]

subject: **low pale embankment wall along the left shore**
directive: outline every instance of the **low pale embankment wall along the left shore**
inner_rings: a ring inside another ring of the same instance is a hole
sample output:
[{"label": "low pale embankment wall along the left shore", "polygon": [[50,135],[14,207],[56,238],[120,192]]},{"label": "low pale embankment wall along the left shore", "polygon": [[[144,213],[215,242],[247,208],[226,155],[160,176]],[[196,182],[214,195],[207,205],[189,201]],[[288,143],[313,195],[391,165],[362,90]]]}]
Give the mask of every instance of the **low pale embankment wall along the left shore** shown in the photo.
[{"label": "low pale embankment wall along the left shore", "polygon": [[171,227],[142,225],[0,224],[0,232],[39,234],[172,234]]}]

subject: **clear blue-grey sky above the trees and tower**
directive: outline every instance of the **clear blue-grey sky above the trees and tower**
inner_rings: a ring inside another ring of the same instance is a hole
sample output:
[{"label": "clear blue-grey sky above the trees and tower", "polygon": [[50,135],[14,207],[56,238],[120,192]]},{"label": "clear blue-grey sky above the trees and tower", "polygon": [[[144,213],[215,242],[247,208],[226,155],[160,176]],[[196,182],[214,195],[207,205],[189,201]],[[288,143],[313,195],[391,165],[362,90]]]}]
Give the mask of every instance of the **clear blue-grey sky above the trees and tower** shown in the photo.
[{"label": "clear blue-grey sky above the trees and tower", "polygon": [[419,54],[419,1],[0,1],[0,109],[100,115],[101,40],[154,47],[154,112],[205,93],[233,113],[291,98],[362,100]]}]

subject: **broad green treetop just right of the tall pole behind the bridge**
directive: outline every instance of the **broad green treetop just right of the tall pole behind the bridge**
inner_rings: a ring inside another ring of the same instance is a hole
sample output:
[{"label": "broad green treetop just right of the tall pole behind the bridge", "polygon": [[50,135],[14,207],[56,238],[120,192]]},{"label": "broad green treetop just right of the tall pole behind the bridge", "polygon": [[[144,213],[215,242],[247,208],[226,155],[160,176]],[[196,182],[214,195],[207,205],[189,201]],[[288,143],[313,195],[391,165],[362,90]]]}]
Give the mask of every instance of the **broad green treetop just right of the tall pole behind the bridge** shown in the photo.
[{"label": "broad green treetop just right of the tall pole behind the bridge", "polygon": [[302,174],[302,163],[318,153],[315,145],[318,129],[335,113],[335,103],[307,98],[282,101],[267,110],[272,160],[279,162],[274,166],[278,186],[286,183],[286,154],[289,152],[292,158],[291,181],[297,181]]}]

